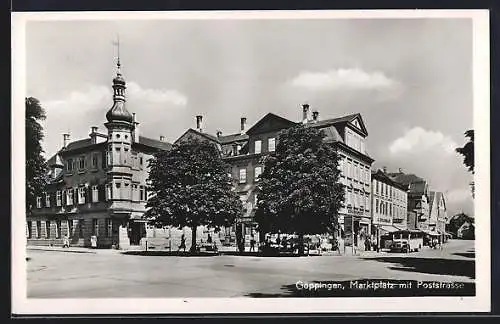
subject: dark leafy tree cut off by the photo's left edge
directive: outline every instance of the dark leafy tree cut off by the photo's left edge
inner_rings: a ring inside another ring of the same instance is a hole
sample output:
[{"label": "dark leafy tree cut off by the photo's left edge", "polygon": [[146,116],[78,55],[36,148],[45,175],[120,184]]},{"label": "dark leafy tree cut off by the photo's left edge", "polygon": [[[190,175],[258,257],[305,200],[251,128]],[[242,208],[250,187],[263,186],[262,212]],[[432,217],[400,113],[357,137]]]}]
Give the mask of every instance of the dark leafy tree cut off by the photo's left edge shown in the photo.
[{"label": "dark leafy tree cut off by the photo's left edge", "polygon": [[45,111],[38,99],[25,98],[26,106],[26,212],[36,206],[36,197],[41,196],[46,185],[47,163],[43,157],[41,142]]}]

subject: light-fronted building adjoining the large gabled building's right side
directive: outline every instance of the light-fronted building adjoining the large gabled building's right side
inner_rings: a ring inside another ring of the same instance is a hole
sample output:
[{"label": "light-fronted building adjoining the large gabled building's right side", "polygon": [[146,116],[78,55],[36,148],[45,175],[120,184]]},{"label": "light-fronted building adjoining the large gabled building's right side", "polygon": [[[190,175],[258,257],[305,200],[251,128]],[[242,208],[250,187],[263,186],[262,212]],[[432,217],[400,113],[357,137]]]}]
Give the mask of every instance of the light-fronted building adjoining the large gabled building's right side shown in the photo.
[{"label": "light-fronted building adjoining the large gabled building's right side", "polygon": [[386,172],[372,171],[372,234],[377,238],[408,227],[406,186],[391,179]]}]

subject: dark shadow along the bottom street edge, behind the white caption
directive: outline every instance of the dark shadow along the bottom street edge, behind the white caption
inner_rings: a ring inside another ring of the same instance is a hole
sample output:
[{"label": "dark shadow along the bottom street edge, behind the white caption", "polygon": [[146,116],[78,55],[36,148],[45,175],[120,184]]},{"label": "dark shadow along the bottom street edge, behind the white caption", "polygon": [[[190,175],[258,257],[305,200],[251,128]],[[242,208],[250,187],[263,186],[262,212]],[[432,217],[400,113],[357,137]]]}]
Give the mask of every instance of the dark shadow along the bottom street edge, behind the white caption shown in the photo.
[{"label": "dark shadow along the bottom street edge, behind the white caption", "polygon": [[359,279],[348,281],[311,281],[283,285],[277,293],[248,293],[246,297],[418,297],[475,296],[472,282],[436,283],[415,280]]}]

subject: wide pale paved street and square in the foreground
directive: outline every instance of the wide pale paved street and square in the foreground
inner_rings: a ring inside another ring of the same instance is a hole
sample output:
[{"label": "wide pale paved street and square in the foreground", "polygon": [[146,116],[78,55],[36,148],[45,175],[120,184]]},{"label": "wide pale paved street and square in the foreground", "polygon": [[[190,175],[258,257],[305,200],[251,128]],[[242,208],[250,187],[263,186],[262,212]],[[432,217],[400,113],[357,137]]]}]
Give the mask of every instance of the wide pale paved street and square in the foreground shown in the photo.
[{"label": "wide pale paved street and square in the foreground", "polygon": [[175,257],[117,251],[28,250],[28,297],[279,296],[297,281],[399,279],[474,282],[474,241],[443,250],[361,256]]}]

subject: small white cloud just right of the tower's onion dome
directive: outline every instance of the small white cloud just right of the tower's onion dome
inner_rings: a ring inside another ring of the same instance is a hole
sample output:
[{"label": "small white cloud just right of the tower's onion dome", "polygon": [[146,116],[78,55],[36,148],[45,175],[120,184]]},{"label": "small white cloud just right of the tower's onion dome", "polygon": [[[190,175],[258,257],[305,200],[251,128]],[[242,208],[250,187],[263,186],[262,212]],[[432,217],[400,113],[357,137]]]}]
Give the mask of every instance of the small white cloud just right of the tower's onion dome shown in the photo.
[{"label": "small white cloud just right of the tower's onion dome", "polygon": [[144,89],[135,82],[127,83],[127,96],[137,102],[170,103],[176,106],[187,104],[187,97],[177,90]]}]

